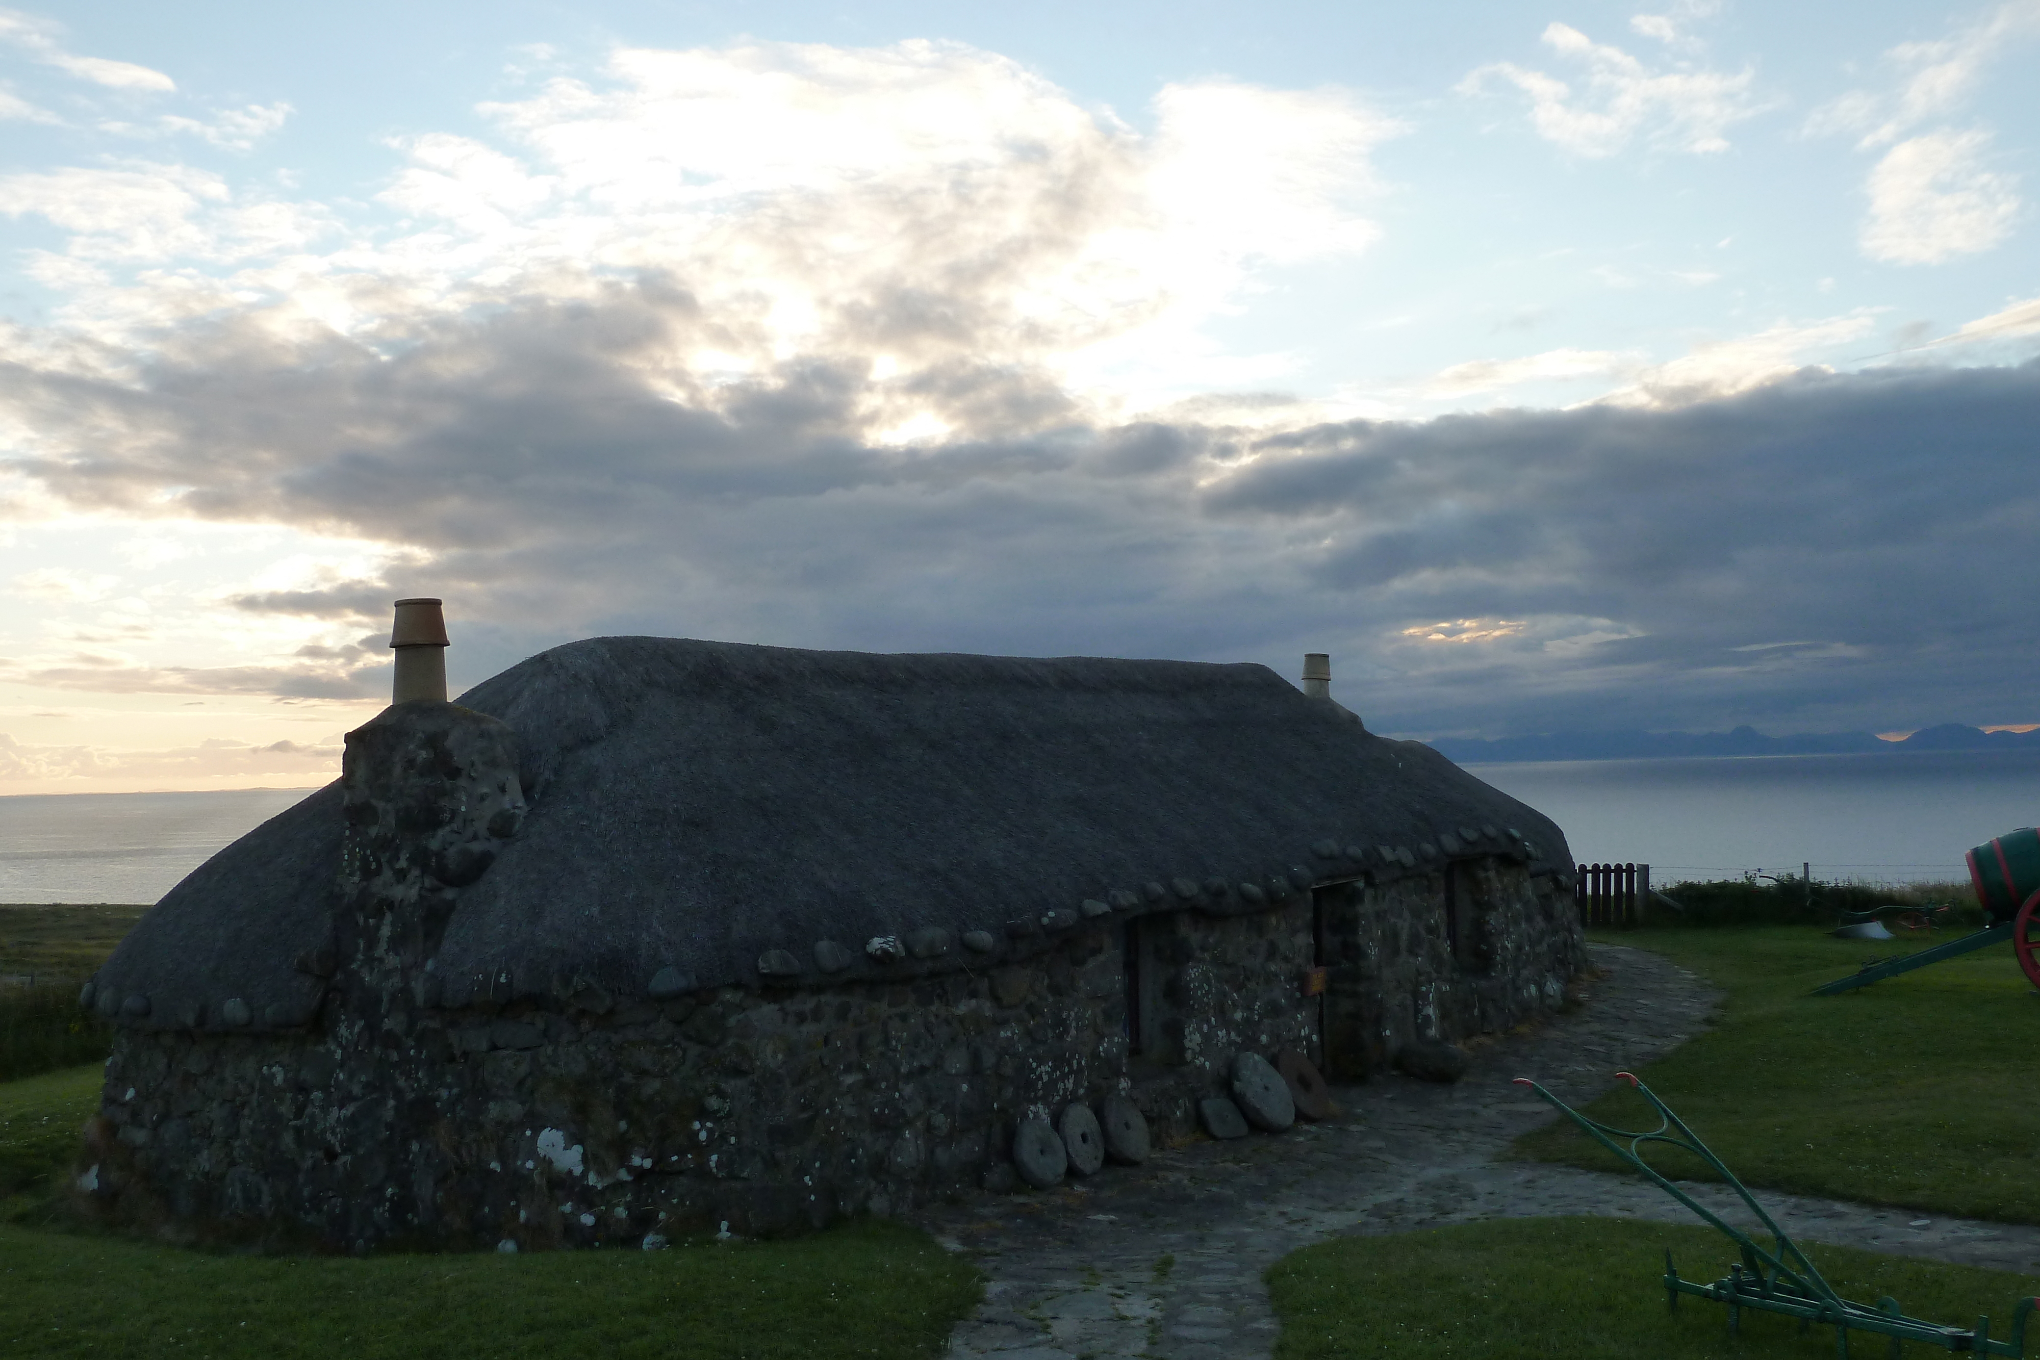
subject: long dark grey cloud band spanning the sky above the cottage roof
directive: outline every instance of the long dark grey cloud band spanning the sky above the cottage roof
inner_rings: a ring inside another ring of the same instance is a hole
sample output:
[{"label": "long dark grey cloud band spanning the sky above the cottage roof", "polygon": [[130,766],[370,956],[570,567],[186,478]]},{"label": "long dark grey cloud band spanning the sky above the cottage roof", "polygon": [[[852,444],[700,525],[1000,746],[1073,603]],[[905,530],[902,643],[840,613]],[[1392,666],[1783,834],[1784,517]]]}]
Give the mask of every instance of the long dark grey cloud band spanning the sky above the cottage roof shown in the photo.
[{"label": "long dark grey cloud band spanning the sky above the cottage roof", "polygon": [[[942,330],[920,306],[896,324]],[[416,548],[381,581],[237,604],[367,622],[443,595],[467,681],[571,636],[663,632],[1289,673],[1324,648],[1338,693],[1395,732],[2040,718],[2034,363],[1257,434],[1100,424],[1042,371],[955,355],[900,379],[814,353],[710,381],[675,355],[712,332],[649,275],[384,349],[218,322],[139,375],[16,363],[0,404],[39,432],[16,471],[78,506]],[[902,404],[951,434],[885,444]],[[169,681],[359,693],[367,661]],[[45,683],[106,679],[71,669]]]}]

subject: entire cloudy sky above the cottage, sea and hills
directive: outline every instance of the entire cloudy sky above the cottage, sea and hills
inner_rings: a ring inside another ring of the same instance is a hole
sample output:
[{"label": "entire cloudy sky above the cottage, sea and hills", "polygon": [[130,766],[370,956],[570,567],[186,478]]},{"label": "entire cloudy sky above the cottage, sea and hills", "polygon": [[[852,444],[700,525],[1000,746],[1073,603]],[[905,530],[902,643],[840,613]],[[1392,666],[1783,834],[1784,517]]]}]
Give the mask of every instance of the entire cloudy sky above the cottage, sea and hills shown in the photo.
[{"label": "entire cloudy sky above the cottage, sea and hills", "polygon": [[0,793],[322,783],[402,595],[455,689],[2040,722],[2036,61],[2040,0],[0,8]]}]

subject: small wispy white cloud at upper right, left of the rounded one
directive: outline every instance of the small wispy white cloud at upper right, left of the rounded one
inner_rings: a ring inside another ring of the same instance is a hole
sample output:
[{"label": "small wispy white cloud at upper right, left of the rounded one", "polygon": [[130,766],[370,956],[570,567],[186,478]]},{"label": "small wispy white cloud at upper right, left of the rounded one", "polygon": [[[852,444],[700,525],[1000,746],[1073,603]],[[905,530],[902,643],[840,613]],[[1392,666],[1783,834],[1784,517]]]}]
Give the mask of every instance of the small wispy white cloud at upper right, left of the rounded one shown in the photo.
[{"label": "small wispy white cloud at upper right, left of the rounded one", "polygon": [[[1667,16],[1638,16],[1646,37],[1677,37]],[[1585,67],[1585,90],[1546,71],[1493,61],[1455,86],[1459,94],[1485,94],[1495,84],[1530,98],[1530,124],[1538,137],[1579,157],[1599,159],[1642,141],[1656,151],[1712,155],[1728,149],[1728,128],[1754,118],[1765,104],[1752,94],[1756,71],[1716,71],[1689,61],[1652,69],[1638,57],[1595,43],[1579,29],[1552,22],[1542,43],[1554,55]]]}]

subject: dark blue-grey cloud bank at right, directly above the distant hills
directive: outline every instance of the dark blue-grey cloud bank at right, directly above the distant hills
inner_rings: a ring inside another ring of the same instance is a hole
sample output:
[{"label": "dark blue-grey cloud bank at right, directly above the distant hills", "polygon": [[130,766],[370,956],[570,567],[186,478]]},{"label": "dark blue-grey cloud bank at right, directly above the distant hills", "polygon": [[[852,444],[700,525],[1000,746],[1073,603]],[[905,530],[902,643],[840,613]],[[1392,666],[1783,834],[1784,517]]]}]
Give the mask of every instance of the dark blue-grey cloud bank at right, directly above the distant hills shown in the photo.
[{"label": "dark blue-grey cloud bank at right, directly above the distant hills", "polygon": [[[1950,659],[2013,665],[2016,585],[1985,544],[2040,526],[2040,495],[1975,530],[1962,500],[2013,475],[2034,414],[2040,365],[1346,422],[1263,440],[1204,508],[1285,534],[1297,595],[1393,622],[1357,644],[1387,675],[1346,701],[1404,728],[1985,712],[2011,695]],[[1455,632],[1469,640],[1438,646]],[[1824,644],[1742,650],[1781,636]]]}]

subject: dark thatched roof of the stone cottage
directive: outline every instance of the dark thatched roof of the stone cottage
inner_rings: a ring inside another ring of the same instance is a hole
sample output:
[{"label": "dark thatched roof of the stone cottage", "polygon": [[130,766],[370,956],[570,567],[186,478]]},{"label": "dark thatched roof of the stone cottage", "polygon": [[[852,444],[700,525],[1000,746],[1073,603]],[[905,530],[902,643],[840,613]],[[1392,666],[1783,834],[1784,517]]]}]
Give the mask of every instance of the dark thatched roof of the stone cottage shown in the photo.
[{"label": "dark thatched roof of the stone cottage", "polygon": [[[1253,911],[1395,873],[1395,848],[1569,862],[1540,814],[1259,665],[592,638],[459,701],[516,732],[530,814],[461,891],[449,1005],[502,973],[628,997],[977,966],[1104,907]],[[180,883],[102,991],[147,995],[145,1026],[208,1001],[210,1028],[224,997],[300,1022],[339,846],[326,787]],[[918,948],[867,952],[885,936]]]}]

